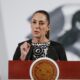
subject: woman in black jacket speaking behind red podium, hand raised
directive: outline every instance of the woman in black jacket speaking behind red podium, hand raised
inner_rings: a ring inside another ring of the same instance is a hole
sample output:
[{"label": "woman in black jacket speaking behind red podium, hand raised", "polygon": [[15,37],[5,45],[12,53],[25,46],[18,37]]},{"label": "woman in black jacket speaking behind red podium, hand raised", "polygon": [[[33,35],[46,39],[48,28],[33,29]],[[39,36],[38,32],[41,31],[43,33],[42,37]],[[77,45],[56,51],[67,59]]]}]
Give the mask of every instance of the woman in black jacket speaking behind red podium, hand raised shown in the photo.
[{"label": "woman in black jacket speaking behind red podium, hand raised", "polygon": [[19,43],[13,60],[36,60],[49,57],[53,60],[67,60],[60,43],[49,40],[50,18],[44,10],[36,11],[31,20],[32,39]]}]

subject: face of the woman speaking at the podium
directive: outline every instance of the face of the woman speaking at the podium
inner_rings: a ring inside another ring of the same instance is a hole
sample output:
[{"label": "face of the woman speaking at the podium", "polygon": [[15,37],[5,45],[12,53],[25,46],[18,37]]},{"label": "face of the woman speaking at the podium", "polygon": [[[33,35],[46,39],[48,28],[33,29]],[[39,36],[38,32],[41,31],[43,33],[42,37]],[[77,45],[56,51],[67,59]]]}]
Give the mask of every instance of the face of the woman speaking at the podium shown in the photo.
[{"label": "face of the woman speaking at the podium", "polygon": [[46,15],[42,13],[34,14],[32,17],[31,28],[33,37],[44,37],[49,30],[49,24]]}]

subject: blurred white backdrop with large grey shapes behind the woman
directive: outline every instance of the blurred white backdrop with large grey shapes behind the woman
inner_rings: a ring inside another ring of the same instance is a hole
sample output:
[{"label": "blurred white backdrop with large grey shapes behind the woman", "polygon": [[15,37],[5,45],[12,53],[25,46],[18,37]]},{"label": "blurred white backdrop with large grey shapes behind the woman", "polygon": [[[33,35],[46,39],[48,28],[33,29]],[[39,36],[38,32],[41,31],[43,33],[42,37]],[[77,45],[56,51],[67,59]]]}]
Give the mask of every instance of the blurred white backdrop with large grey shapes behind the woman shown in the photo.
[{"label": "blurred white backdrop with large grey shapes behind the woman", "polygon": [[18,43],[31,37],[30,18],[40,9],[50,14],[50,39],[64,46],[68,61],[80,61],[80,31],[79,28],[74,31],[72,27],[72,18],[80,10],[79,5],[80,0],[0,0],[0,74],[4,74],[2,78],[7,78],[7,61],[12,60]]}]

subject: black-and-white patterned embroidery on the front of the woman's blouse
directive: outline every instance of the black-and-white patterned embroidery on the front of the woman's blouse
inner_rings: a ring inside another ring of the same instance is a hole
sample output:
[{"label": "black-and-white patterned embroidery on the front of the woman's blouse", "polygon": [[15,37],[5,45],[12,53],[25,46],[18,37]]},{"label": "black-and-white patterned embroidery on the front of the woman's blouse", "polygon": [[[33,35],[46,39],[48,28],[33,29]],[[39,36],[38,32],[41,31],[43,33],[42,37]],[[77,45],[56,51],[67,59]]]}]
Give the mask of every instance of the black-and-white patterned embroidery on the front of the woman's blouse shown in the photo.
[{"label": "black-and-white patterned embroidery on the front of the woman's blouse", "polygon": [[47,43],[32,43],[34,59],[38,59],[40,57],[46,57],[49,45],[50,45],[50,42],[47,42]]}]

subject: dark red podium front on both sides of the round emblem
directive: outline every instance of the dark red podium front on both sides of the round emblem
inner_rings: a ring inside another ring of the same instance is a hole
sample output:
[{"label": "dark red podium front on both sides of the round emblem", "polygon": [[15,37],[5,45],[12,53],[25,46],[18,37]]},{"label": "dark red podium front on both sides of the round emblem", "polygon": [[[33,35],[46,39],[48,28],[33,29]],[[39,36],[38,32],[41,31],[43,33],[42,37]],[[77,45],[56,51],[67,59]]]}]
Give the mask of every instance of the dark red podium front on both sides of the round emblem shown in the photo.
[{"label": "dark red podium front on both sides of the round emblem", "polygon": [[[30,79],[29,68],[33,61],[9,61],[8,79]],[[59,79],[80,80],[80,62],[57,61],[60,69]]]}]

